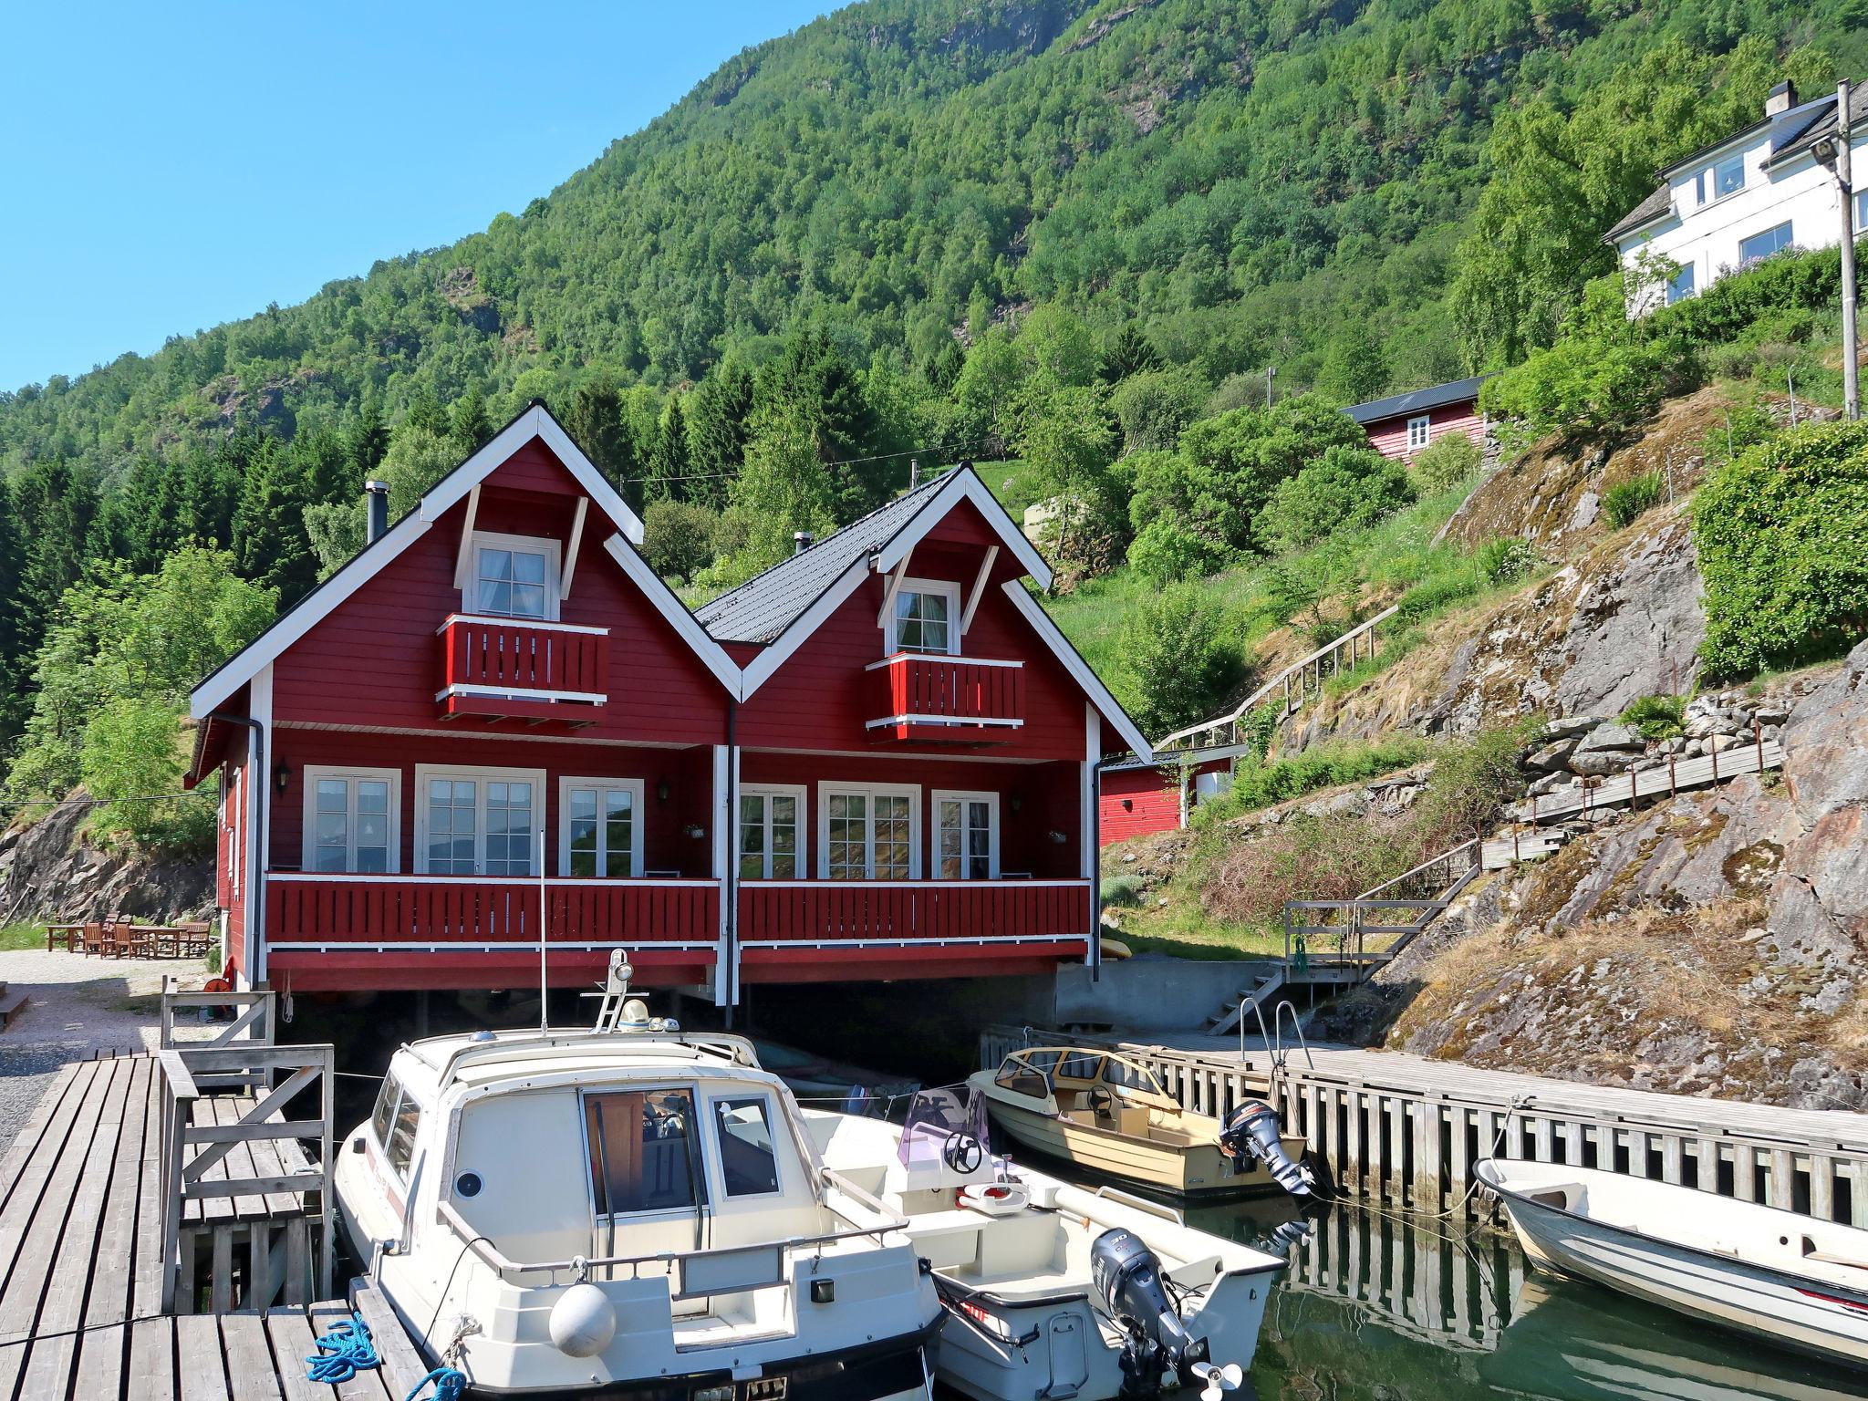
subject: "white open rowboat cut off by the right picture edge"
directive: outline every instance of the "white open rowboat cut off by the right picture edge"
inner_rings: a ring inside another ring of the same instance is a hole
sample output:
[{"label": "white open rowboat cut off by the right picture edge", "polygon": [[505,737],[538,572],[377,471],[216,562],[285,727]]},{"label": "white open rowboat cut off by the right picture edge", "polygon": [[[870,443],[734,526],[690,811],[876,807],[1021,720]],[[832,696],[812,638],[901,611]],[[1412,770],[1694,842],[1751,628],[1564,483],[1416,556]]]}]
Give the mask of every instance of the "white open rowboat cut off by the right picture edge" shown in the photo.
[{"label": "white open rowboat cut off by the right picture edge", "polygon": [[1868,1231],[1560,1162],[1476,1171],[1532,1263],[1868,1367]]}]

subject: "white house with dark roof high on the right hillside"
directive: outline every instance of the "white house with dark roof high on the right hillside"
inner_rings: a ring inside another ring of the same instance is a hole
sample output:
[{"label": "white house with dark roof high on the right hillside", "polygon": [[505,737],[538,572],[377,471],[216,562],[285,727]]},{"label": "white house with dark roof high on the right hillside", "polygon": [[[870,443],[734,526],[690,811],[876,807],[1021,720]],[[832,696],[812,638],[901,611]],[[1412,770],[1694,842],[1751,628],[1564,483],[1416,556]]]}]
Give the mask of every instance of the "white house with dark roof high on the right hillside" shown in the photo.
[{"label": "white house with dark roof high on the right hillside", "polygon": [[[1670,260],[1679,273],[1633,299],[1631,316],[1676,303],[1788,247],[1827,248],[1842,237],[1840,191],[1818,161],[1836,134],[1836,95],[1806,103],[1788,82],[1771,90],[1763,120],[1676,161],[1659,189],[1603,235],[1625,269]],[[1868,224],[1868,92],[1853,90],[1849,149],[1855,163],[1855,234]]]}]

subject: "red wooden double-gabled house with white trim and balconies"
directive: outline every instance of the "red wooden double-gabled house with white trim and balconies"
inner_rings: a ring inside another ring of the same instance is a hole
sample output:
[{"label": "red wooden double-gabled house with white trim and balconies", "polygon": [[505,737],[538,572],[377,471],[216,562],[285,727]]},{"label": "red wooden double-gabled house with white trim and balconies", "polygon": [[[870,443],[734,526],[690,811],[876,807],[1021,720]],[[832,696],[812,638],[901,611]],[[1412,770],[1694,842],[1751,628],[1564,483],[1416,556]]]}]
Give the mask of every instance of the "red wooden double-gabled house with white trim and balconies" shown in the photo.
[{"label": "red wooden double-gabled house with white trim and balconies", "polygon": [[1097,958],[1097,779],[1147,742],[962,469],[691,613],[532,405],[207,676],[228,958],[282,990]]}]

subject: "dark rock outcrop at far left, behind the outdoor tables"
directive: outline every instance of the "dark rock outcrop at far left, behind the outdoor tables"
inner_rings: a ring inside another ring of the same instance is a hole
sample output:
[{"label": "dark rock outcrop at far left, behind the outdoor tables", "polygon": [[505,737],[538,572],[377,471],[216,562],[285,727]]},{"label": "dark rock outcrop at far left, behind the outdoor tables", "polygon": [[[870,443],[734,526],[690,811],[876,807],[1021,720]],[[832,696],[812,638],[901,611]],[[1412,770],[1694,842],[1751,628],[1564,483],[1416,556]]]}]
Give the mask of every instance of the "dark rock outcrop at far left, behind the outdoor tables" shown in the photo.
[{"label": "dark rock outcrop at far left, behind the outdoor tables", "polygon": [[84,837],[86,813],[82,803],[67,803],[30,828],[0,833],[0,925],[213,915],[215,872],[207,857],[105,850]]}]

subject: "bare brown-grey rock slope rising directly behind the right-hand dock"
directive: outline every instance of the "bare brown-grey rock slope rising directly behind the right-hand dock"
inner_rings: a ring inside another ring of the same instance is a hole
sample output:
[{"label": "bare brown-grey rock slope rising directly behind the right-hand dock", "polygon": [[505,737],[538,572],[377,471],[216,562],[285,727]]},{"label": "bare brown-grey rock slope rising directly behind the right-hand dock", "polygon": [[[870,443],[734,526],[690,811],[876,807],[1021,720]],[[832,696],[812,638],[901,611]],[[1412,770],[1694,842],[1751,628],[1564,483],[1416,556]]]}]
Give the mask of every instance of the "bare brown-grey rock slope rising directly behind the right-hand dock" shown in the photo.
[{"label": "bare brown-grey rock slope rising directly behind the right-hand dock", "polygon": [[1788,686],[1782,775],[1601,818],[1476,885],[1319,1035],[1868,1108],[1868,643]]}]

